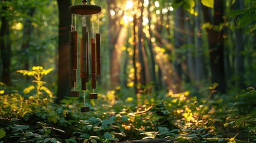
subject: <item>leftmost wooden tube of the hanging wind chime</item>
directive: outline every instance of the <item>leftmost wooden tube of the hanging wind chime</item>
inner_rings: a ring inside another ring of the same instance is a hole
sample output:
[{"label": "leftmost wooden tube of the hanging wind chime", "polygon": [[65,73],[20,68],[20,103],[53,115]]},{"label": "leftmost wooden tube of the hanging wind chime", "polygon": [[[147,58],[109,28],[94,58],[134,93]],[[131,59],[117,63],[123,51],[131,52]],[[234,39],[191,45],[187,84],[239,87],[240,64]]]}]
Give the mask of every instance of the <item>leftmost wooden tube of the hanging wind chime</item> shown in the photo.
[{"label": "leftmost wooden tube of the hanging wind chime", "polygon": [[69,32],[69,85],[70,88],[75,87],[75,82],[73,82],[73,48],[74,48],[74,38],[73,31]]}]

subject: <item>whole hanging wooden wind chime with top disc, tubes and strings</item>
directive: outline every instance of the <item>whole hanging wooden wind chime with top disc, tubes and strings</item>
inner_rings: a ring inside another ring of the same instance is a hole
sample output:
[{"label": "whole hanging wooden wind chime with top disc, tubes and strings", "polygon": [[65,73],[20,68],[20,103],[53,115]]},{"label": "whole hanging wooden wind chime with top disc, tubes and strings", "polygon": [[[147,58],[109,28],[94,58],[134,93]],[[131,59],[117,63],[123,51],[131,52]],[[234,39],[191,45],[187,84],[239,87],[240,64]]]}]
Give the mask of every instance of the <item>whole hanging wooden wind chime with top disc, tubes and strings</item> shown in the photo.
[{"label": "whole hanging wooden wind chime with top disc, tubes and strings", "polygon": [[[89,82],[89,69],[91,64],[91,88],[92,93],[89,95],[90,99],[97,99],[98,94],[94,93],[96,88],[96,76],[101,74],[101,57],[100,57],[100,33],[94,35],[94,24],[92,21],[93,37],[89,41],[89,32],[87,29],[86,16],[98,14],[101,12],[101,7],[98,5],[86,4],[87,1],[82,1],[81,5],[72,5],[69,10],[72,15],[71,30],[69,32],[69,63],[70,63],[70,91],[71,97],[79,97],[79,91],[76,91],[76,82],[78,80],[78,31],[76,30],[76,14],[82,15],[82,38],[80,39],[80,78],[81,89],[84,91],[84,107],[81,107],[81,112],[90,111],[90,107],[85,105],[85,90],[87,90],[87,83]],[[73,24],[73,17],[75,16],[75,26]],[[98,15],[97,15],[98,24]],[[98,29],[98,26],[97,26]],[[90,42],[90,45],[89,45]],[[91,46],[91,63],[89,62],[89,46]]]}]

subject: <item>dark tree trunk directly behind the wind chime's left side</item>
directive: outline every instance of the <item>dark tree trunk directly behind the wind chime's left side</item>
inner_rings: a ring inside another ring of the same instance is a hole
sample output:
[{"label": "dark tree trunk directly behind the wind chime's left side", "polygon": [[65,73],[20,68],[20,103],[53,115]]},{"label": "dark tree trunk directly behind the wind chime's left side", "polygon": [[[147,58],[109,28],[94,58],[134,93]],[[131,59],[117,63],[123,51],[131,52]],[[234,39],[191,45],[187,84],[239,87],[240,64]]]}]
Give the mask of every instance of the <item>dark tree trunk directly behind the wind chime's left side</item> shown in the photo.
[{"label": "dark tree trunk directly behind the wind chime's left side", "polygon": [[58,0],[58,91],[57,102],[69,95],[69,31],[71,1]]}]

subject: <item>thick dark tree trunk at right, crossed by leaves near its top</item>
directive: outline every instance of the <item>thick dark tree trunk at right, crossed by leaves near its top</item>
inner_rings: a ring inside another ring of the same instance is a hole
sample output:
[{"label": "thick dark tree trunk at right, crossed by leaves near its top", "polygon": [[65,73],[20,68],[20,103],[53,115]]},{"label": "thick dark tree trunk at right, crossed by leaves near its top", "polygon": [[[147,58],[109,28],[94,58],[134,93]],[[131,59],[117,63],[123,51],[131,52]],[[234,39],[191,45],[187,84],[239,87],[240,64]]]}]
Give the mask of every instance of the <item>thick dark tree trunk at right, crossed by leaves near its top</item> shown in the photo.
[{"label": "thick dark tree trunk at right, crossed by leaves near its top", "polygon": [[[213,25],[223,23],[223,0],[214,1],[214,15],[213,21],[211,15],[209,15],[208,8],[203,6],[203,16],[205,22],[209,22]],[[212,82],[218,83],[217,90],[220,92],[226,92],[226,79],[224,70],[224,40],[223,30],[217,31],[214,29],[207,29],[208,43],[209,43],[209,56],[210,66],[212,74]]]}]

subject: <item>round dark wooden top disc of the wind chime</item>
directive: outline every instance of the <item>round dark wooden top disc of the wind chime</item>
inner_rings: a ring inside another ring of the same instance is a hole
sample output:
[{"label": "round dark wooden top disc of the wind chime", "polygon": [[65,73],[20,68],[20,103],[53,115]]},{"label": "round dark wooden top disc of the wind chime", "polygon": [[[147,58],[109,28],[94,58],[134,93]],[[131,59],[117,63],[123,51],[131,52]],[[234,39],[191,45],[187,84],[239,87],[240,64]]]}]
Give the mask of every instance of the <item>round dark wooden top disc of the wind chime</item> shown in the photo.
[{"label": "round dark wooden top disc of the wind chime", "polygon": [[101,12],[101,7],[98,5],[82,4],[82,5],[72,5],[69,10],[73,14],[80,15],[91,15]]}]

